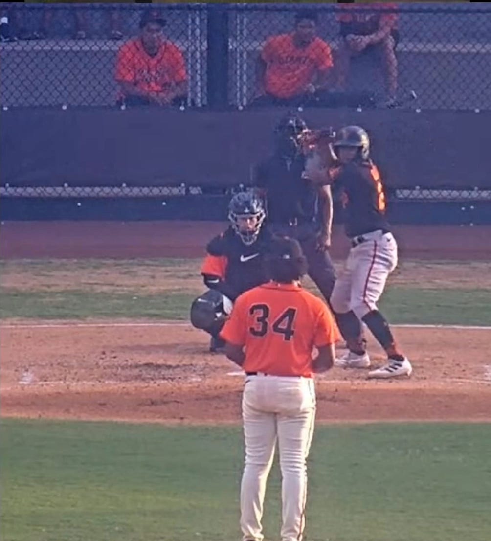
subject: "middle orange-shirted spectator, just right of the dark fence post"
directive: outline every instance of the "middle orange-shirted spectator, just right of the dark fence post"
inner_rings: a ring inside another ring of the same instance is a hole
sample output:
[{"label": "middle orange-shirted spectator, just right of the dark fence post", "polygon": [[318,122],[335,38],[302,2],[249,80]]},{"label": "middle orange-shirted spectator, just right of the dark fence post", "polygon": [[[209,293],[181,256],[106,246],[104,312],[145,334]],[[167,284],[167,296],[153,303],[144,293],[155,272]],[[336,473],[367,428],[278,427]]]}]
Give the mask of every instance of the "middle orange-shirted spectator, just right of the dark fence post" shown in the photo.
[{"label": "middle orange-shirted spectator, just right of the dark fence post", "polygon": [[300,105],[322,98],[333,60],[316,27],[315,11],[299,11],[293,32],[267,40],[257,59],[254,105]]}]

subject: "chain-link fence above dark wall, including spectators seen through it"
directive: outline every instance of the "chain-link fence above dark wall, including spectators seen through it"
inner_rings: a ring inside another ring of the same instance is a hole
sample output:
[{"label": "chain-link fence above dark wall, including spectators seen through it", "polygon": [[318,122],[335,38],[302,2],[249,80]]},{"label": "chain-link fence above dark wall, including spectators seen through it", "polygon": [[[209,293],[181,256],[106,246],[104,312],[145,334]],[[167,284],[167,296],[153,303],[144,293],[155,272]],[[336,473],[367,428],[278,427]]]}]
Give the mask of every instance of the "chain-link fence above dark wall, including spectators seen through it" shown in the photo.
[{"label": "chain-link fence above dark wall, including spectators seen through it", "polygon": [[377,5],[151,4],[149,56],[142,4],[6,3],[0,99],[115,105],[128,83],[156,105],[491,109],[491,4]]}]

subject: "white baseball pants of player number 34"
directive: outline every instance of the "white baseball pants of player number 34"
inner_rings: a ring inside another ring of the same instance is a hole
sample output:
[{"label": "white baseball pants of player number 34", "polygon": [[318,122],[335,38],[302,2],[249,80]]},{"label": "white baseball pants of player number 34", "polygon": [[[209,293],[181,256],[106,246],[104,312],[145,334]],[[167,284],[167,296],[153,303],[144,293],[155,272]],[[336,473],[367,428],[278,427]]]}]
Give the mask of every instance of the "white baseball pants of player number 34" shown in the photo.
[{"label": "white baseball pants of player number 34", "polygon": [[262,541],[264,493],[276,441],[282,476],[282,541],[301,541],[307,501],[307,456],[314,433],[312,378],[247,376],[242,397],[245,466],[241,484],[244,540]]}]

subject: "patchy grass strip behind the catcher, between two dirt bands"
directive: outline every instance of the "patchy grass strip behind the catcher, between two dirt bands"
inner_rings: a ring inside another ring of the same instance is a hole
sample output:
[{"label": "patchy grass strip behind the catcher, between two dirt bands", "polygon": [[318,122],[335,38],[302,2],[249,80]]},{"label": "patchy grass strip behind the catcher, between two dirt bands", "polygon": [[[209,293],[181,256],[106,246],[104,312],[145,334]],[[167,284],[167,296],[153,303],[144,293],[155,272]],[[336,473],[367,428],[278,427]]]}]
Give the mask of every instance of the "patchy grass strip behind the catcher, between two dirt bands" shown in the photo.
[{"label": "patchy grass strip behind the catcher, between two dirt bands", "polygon": [[[191,301],[204,291],[198,263],[185,259],[0,261],[4,278],[0,319],[188,319]],[[380,302],[389,321],[491,325],[491,289],[472,289],[472,282],[459,281],[458,265],[413,261],[402,266],[407,282],[389,283]],[[431,272],[420,287],[421,269]],[[487,267],[474,271],[482,275]],[[319,294],[310,280],[305,285]]]}]

